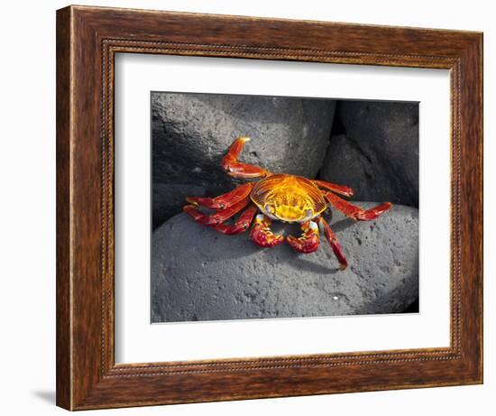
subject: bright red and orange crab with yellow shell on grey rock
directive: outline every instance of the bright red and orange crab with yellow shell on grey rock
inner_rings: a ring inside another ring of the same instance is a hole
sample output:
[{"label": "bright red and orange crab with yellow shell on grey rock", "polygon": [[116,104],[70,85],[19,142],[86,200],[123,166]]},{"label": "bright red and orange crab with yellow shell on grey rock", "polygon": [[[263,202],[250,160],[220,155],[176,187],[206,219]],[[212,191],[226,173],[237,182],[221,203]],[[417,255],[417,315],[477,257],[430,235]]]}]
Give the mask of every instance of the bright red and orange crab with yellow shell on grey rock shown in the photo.
[{"label": "bright red and orange crab with yellow shell on grey rock", "polygon": [[[339,268],[344,270],[348,263],[335,233],[323,217],[327,205],[354,220],[370,221],[381,216],[392,204],[384,202],[365,210],[338,197],[349,198],[354,195],[353,190],[344,185],[286,173],[271,173],[261,167],[238,162],[244,143],[249,140],[249,137],[237,138],[225,154],[222,167],[234,178],[261,180],[244,183],[216,198],[188,197],[184,211],[197,223],[211,226],[225,235],[243,233],[254,218],[250,238],[264,248],[280,245],[284,241],[284,236],[271,231],[272,220],[299,223],[301,236],[289,235],[286,241],[297,252],[304,254],[317,250],[322,230],[339,262]],[[208,215],[200,207],[214,212]],[[239,212],[241,214],[234,223],[226,223]]]}]

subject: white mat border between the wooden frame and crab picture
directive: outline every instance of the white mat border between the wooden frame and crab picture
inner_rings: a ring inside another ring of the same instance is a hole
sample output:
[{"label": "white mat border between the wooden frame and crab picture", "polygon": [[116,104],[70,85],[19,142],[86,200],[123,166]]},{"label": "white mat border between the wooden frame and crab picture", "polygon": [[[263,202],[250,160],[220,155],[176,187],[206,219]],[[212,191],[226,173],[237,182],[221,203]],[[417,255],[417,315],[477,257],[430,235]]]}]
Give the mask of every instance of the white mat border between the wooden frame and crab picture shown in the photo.
[{"label": "white mat border between the wooden frame and crab picture", "polygon": [[[151,325],[151,91],[419,101],[420,313]],[[449,112],[447,69],[117,54],[116,362],[448,347]]]}]

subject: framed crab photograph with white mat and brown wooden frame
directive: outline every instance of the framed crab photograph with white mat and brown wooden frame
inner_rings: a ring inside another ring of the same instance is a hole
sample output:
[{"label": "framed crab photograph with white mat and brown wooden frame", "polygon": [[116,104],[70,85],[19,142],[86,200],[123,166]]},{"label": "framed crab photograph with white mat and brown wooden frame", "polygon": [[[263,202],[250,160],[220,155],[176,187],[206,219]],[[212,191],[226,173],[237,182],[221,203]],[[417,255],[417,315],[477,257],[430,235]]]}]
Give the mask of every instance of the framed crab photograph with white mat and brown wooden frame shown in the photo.
[{"label": "framed crab photograph with white mat and brown wooden frame", "polygon": [[482,33],[57,12],[57,404],[482,383]]}]

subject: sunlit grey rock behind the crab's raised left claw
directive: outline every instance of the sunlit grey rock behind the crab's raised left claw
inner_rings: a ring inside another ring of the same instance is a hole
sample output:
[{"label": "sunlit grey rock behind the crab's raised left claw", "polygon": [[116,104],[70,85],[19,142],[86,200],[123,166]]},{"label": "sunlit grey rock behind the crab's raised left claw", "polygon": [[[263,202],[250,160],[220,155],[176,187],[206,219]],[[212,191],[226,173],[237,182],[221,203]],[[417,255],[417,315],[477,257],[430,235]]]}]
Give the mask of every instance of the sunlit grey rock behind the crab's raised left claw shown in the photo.
[{"label": "sunlit grey rock behind the crab's raised left claw", "polygon": [[240,183],[220,163],[238,136],[243,162],[315,178],[329,143],[335,101],[289,97],[152,93],[153,226],[184,198]]}]

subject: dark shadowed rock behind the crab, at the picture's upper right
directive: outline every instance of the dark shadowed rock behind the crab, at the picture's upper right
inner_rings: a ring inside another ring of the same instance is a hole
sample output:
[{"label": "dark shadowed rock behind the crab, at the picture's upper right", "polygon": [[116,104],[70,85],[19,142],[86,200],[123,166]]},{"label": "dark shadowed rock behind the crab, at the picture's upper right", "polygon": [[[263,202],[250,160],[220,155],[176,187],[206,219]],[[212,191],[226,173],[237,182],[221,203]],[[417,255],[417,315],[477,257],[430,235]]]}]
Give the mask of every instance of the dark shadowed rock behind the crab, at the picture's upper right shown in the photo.
[{"label": "dark shadowed rock behind the crab, at the picture's upper right", "polygon": [[331,138],[320,179],[355,199],[418,207],[418,104],[341,101],[336,118],[344,134]]}]

